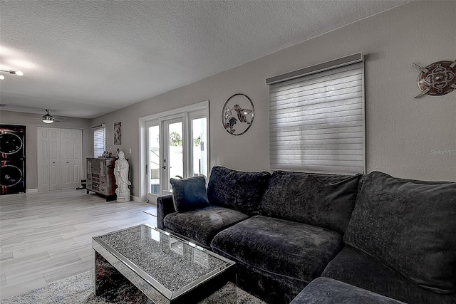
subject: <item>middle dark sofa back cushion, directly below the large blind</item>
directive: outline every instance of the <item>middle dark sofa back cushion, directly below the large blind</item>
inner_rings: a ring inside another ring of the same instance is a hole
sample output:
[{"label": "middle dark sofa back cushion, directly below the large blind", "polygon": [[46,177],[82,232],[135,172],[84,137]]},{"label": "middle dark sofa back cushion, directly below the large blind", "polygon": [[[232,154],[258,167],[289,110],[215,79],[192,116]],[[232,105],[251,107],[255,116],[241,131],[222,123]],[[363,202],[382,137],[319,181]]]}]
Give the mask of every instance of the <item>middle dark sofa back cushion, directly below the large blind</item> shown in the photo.
[{"label": "middle dark sofa back cushion, directly below the large blind", "polygon": [[355,205],[359,177],[273,172],[259,213],[343,234]]}]

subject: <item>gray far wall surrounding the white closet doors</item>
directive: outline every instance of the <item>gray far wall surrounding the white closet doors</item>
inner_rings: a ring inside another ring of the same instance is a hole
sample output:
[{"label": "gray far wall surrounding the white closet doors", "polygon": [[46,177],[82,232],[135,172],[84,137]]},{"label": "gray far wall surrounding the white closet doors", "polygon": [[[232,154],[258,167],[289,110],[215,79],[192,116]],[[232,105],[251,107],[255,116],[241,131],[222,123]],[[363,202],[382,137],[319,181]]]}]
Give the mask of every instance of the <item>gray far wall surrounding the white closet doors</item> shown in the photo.
[{"label": "gray far wall surrounding the white closet doors", "polygon": [[[24,112],[0,111],[0,122],[5,125],[26,126],[26,189],[38,189],[38,162],[36,159],[36,127],[57,127],[62,129],[83,130],[83,159],[93,156],[93,134],[90,120],[72,117],[63,117],[61,122],[53,122],[46,125],[37,117],[43,114],[31,114]],[[24,118],[30,117],[30,118]],[[83,176],[86,176],[86,166],[83,166]]]}]

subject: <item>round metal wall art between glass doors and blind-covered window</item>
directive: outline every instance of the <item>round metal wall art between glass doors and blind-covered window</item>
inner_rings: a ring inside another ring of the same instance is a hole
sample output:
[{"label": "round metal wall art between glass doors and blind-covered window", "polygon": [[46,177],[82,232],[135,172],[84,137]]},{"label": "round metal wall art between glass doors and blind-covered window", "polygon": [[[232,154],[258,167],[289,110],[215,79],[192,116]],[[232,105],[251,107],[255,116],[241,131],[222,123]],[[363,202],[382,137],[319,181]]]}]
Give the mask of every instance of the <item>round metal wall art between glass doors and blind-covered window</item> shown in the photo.
[{"label": "round metal wall art between glass doors and blind-covered window", "polygon": [[222,125],[231,135],[242,135],[254,122],[254,103],[249,96],[237,93],[228,98],[222,109]]}]

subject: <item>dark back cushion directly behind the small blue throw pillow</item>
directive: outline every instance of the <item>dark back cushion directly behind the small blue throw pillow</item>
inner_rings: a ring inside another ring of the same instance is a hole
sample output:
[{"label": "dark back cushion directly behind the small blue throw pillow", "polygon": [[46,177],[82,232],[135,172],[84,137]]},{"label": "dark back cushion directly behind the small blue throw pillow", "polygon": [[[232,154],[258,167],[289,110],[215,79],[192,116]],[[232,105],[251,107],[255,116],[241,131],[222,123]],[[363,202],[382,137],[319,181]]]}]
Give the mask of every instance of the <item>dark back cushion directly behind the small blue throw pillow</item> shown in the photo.
[{"label": "dark back cushion directly behind the small blue throw pillow", "polygon": [[270,176],[269,172],[241,172],[214,166],[207,184],[209,203],[254,215]]}]

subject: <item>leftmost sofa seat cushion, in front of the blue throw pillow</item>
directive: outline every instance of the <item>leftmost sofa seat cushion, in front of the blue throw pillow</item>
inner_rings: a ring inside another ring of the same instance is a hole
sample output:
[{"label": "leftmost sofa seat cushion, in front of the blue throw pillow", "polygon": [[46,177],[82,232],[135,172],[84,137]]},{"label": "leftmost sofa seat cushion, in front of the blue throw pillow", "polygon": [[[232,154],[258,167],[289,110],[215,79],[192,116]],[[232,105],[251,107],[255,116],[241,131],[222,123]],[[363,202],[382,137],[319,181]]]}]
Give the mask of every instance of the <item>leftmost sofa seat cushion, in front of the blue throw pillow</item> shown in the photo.
[{"label": "leftmost sofa seat cushion, in front of the blue throw pillow", "polygon": [[249,216],[220,206],[207,206],[195,211],[165,216],[165,228],[209,247],[219,231]]}]

